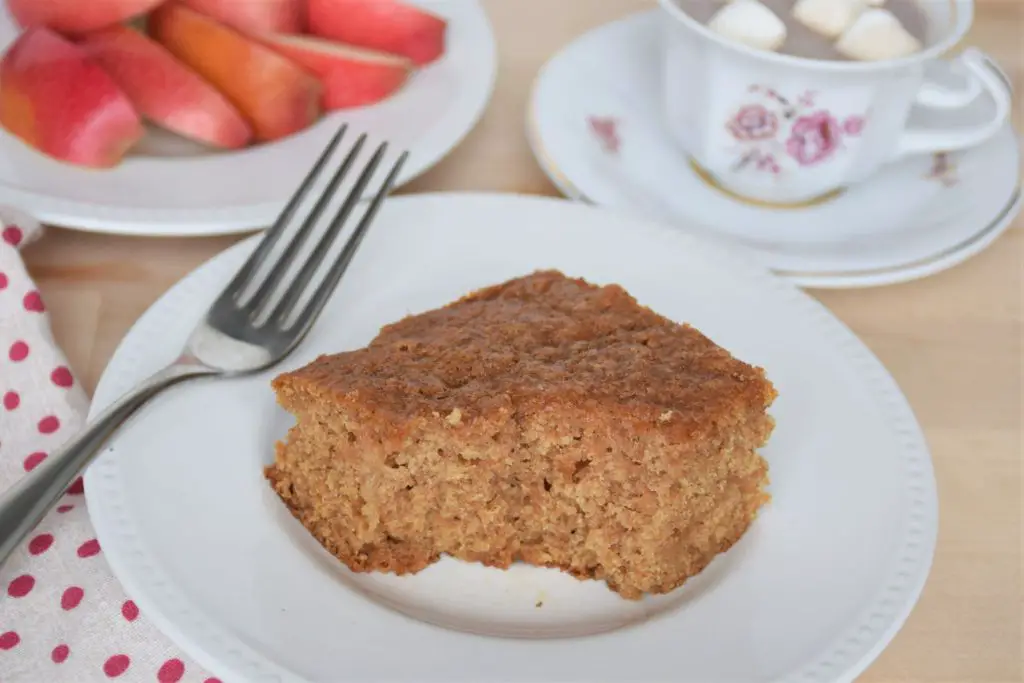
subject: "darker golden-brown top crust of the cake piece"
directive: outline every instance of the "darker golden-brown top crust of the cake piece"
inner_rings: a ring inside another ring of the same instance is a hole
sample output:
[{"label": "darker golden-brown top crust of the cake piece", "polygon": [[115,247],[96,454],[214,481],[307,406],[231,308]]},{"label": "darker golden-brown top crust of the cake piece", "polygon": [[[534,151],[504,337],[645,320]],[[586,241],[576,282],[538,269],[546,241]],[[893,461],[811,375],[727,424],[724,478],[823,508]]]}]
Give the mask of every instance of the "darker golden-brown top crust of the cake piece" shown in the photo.
[{"label": "darker golden-brown top crust of the cake piece", "polygon": [[288,384],[356,399],[396,424],[455,410],[471,421],[499,407],[601,403],[691,433],[775,396],[762,370],[692,327],[618,286],[553,270],[389,325],[367,348],[321,356],[273,383]]}]

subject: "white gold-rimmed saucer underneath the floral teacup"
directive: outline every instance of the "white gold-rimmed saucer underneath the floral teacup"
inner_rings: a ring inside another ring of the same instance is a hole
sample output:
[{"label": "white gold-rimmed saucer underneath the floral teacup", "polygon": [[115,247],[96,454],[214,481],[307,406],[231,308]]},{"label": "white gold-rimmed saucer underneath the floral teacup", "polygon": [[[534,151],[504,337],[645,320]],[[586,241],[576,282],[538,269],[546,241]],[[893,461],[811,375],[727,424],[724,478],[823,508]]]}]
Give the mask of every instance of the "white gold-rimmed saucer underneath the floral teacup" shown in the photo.
[{"label": "white gold-rimmed saucer underneath the floral teacup", "polygon": [[[1019,212],[1020,154],[1009,123],[981,147],[894,164],[818,205],[771,208],[729,196],[701,177],[665,131],[659,14],[642,12],[586,34],[538,77],[527,135],[567,197],[727,241],[816,288],[939,272],[988,247]],[[955,79],[946,62],[932,69],[937,78]],[[990,105],[982,98],[962,116],[984,117]]]}]

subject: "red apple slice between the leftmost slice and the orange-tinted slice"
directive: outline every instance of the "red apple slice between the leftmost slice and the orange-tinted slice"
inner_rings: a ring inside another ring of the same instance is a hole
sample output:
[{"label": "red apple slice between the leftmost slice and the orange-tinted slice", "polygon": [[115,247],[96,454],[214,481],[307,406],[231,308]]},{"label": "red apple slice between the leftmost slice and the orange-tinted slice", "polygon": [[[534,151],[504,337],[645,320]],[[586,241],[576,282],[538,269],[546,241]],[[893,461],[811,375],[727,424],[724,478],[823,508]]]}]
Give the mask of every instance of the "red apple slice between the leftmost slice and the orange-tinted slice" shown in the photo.
[{"label": "red apple slice between the leftmost slice and the orange-tinted slice", "polygon": [[228,150],[245,146],[252,138],[249,124],[227,98],[137,31],[114,27],[89,34],[81,44],[138,113],[157,125]]}]

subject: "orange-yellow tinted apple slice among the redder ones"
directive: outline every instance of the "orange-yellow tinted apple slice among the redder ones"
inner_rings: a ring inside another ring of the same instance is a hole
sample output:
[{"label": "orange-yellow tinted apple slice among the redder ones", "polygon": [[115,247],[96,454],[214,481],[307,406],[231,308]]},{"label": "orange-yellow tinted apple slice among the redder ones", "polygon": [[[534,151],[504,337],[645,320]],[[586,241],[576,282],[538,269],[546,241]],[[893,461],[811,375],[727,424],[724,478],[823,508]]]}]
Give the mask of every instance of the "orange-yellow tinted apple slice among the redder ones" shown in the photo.
[{"label": "orange-yellow tinted apple slice among the redder ones", "polygon": [[153,12],[148,26],[154,38],[239,109],[255,139],[275,140],[319,118],[319,81],[265,45],[173,3]]}]

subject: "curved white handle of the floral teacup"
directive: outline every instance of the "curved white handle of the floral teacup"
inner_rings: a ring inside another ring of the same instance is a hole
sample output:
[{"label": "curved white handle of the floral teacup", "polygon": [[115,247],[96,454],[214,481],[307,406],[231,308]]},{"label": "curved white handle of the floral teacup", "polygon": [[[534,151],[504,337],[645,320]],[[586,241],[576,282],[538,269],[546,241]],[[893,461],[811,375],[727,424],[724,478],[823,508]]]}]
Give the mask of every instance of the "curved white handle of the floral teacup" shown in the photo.
[{"label": "curved white handle of the floral teacup", "polygon": [[980,50],[965,50],[956,58],[968,76],[968,87],[951,90],[935,83],[926,83],[918,93],[919,106],[929,109],[962,109],[987,92],[995,101],[995,115],[987,123],[928,130],[907,130],[896,148],[897,159],[910,155],[954,152],[981,144],[995,135],[1010,116],[1013,94],[998,68]]}]

